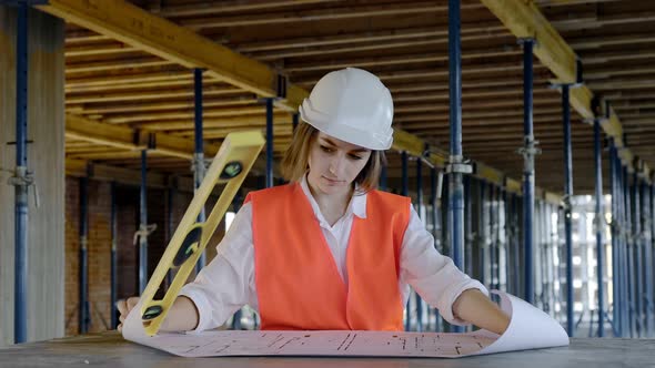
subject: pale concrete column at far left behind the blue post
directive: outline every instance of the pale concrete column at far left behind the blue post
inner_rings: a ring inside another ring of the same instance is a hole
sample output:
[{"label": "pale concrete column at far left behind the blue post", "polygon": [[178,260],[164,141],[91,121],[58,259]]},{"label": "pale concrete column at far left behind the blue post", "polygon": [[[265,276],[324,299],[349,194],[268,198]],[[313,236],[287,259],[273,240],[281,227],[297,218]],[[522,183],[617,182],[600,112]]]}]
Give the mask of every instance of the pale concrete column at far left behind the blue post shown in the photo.
[{"label": "pale concrete column at far left behind the blue post", "polygon": [[[63,336],[64,23],[29,10],[28,341]],[[0,6],[0,346],[13,344],[17,8]]]}]

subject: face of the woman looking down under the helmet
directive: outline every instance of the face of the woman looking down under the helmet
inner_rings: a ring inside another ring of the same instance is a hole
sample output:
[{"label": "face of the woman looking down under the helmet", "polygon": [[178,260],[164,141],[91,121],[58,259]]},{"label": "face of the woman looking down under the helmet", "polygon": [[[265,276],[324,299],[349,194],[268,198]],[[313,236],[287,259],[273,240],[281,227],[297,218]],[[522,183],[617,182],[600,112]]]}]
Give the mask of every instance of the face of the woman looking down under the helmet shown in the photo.
[{"label": "face of the woman looking down under the helmet", "polygon": [[319,132],[310,149],[309,184],[322,194],[344,193],[370,157],[371,150]]}]

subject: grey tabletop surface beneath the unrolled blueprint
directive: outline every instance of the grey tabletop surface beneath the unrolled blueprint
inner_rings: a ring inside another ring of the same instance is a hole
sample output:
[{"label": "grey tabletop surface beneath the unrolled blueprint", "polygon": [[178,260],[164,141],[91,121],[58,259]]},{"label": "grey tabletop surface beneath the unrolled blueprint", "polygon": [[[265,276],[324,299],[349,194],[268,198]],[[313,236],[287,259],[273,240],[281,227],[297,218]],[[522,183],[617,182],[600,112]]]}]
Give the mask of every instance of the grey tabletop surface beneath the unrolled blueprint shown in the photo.
[{"label": "grey tabletop surface beneath the unrolled blueprint", "polygon": [[123,340],[115,331],[0,349],[0,367],[655,367],[655,339],[572,339],[571,346],[461,359],[181,358]]}]

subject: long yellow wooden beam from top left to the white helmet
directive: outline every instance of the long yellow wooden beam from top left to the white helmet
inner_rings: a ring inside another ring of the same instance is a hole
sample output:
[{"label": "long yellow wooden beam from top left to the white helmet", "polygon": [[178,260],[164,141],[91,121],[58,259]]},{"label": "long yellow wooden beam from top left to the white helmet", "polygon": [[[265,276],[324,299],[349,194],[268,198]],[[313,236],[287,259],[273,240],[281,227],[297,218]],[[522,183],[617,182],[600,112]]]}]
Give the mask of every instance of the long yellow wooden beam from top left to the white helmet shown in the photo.
[{"label": "long yellow wooden beam from top left to the white helmet", "polygon": [[[260,96],[276,95],[278,73],[266,64],[127,1],[50,0],[48,4],[38,8],[164,60],[190,69],[206,69],[210,76]],[[279,105],[295,111],[308,93],[299,93],[295,89]]]}]

